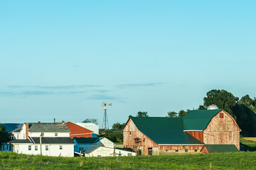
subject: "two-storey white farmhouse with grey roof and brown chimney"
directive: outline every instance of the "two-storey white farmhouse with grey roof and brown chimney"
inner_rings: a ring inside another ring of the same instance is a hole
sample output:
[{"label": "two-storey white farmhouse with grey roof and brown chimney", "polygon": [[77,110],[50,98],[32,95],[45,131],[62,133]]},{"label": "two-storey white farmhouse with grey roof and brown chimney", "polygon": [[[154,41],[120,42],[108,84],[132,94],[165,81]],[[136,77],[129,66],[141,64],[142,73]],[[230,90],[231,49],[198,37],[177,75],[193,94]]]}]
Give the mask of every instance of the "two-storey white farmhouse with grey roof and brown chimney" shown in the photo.
[{"label": "two-storey white farmhouse with grey roof and brown chimney", "polygon": [[[42,154],[47,156],[74,156],[74,142],[68,126],[63,123],[24,123],[21,130],[13,132],[16,140],[12,150],[18,154]],[[40,142],[41,137],[41,142]]]}]

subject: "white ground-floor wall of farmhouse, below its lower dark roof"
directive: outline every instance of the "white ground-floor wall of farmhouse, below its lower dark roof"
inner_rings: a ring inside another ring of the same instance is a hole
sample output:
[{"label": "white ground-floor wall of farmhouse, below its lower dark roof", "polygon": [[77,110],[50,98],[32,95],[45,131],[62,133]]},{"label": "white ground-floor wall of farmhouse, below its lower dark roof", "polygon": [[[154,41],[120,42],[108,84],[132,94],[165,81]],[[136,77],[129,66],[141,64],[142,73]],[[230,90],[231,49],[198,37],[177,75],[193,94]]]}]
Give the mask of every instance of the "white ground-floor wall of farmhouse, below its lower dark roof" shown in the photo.
[{"label": "white ground-floor wall of farmhouse, below its lower dark roof", "polygon": [[[28,150],[28,145],[31,145],[31,150]],[[38,150],[35,150],[35,146],[38,146]],[[60,145],[48,145],[48,151],[46,145],[42,145],[42,155],[53,157],[74,157],[74,145],[62,145],[63,149],[60,149]],[[14,144],[14,152],[18,154],[40,154],[40,145],[36,144]]]}]

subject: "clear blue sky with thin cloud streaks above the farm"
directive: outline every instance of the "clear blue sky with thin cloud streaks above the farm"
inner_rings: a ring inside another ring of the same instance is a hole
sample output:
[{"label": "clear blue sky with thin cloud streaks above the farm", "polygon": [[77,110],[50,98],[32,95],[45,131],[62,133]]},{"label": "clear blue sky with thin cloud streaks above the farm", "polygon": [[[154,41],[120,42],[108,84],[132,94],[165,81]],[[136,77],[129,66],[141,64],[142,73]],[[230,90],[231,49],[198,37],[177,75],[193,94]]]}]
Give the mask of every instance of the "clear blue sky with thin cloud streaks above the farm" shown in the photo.
[{"label": "clear blue sky with thin cloud streaks above the farm", "polygon": [[256,96],[255,1],[2,1],[1,123],[110,126]]}]

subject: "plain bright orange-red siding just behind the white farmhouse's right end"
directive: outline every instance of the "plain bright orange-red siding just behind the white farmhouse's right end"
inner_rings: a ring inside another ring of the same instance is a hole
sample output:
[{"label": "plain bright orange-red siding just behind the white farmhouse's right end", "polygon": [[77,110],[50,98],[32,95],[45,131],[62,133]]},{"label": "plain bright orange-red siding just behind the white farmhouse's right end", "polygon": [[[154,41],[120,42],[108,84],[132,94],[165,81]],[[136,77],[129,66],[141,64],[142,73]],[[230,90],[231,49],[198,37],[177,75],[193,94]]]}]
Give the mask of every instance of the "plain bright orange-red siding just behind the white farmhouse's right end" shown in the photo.
[{"label": "plain bright orange-red siding just behind the white farmhouse's right end", "polygon": [[82,126],[75,123],[68,122],[68,129],[70,130],[70,137],[92,137],[92,131],[82,128]]}]

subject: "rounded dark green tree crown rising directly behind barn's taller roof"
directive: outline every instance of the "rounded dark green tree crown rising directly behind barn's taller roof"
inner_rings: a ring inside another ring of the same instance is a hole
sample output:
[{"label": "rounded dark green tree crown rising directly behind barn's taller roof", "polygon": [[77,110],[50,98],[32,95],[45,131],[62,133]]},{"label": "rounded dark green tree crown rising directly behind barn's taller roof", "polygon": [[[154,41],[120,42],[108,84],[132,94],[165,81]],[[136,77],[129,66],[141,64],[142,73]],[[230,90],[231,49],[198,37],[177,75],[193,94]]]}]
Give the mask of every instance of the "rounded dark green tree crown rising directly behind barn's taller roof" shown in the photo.
[{"label": "rounded dark green tree crown rising directly behind barn's taller roof", "polygon": [[211,104],[215,104],[218,108],[222,108],[233,116],[232,108],[235,106],[238,99],[238,97],[233,96],[233,94],[228,91],[213,89],[208,91],[206,97],[203,98],[203,105],[207,108]]}]

